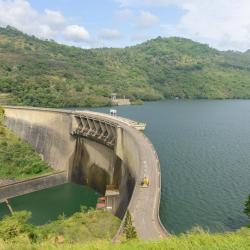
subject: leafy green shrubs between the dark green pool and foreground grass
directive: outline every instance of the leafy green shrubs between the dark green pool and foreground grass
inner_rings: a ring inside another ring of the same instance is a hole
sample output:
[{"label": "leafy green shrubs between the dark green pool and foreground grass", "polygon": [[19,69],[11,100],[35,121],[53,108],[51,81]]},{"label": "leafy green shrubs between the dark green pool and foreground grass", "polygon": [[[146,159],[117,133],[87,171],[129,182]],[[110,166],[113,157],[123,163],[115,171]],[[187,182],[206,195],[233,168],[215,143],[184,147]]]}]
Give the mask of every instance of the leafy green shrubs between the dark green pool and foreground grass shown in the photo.
[{"label": "leafy green shrubs between the dark green pool and foreground grass", "polygon": [[30,212],[21,211],[4,217],[0,221],[0,242],[69,244],[98,239],[111,240],[120,226],[117,217],[102,210],[82,210],[67,219],[61,216],[58,220],[42,226],[29,224],[27,221],[30,216]]}]

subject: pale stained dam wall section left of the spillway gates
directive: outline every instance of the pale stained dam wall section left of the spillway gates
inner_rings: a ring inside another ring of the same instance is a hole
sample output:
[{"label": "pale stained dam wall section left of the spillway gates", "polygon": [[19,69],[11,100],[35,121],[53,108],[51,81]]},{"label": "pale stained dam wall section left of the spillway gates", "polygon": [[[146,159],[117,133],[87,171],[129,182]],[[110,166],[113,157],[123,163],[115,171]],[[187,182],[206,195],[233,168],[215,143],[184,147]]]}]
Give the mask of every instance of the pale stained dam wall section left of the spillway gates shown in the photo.
[{"label": "pale stained dam wall section left of the spillway gates", "polygon": [[41,158],[56,170],[67,170],[75,150],[70,135],[72,118],[65,112],[5,107],[6,125],[28,141]]}]

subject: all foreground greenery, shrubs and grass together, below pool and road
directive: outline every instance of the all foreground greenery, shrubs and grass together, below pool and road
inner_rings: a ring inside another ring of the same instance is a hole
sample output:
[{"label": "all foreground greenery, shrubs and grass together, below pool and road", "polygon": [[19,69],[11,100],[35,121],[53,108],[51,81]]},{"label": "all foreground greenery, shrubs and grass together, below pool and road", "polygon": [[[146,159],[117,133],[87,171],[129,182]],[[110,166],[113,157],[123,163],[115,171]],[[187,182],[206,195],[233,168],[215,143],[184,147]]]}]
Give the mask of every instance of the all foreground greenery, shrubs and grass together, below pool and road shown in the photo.
[{"label": "all foreground greenery, shrubs and grass together, below pool and road", "polygon": [[237,232],[210,234],[197,228],[181,236],[170,236],[161,241],[124,241],[112,243],[119,220],[108,212],[79,212],[40,227],[27,224],[27,212],[15,213],[0,222],[1,249],[250,249],[250,229]]}]

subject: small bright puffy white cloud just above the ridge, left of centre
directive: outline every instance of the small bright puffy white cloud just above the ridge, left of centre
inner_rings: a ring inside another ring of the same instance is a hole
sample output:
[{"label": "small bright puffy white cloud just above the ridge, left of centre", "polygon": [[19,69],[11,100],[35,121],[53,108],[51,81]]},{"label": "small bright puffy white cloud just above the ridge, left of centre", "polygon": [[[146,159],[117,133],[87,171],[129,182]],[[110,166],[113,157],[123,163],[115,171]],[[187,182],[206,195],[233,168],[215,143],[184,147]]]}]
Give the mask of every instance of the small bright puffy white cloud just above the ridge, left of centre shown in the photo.
[{"label": "small bright puffy white cloud just above the ridge, left of centre", "polygon": [[79,25],[69,25],[63,32],[65,38],[73,42],[88,42],[90,39],[89,32]]}]

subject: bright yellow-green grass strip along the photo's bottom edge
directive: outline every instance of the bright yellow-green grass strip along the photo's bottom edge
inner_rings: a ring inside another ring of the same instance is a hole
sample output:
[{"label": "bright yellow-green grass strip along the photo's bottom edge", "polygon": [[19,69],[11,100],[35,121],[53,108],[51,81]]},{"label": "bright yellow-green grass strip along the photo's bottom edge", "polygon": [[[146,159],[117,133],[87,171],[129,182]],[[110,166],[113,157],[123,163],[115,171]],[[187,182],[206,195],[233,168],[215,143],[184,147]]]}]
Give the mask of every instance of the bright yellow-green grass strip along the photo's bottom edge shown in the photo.
[{"label": "bright yellow-green grass strip along the photo's bottom edge", "polygon": [[[84,237],[84,236],[83,236]],[[69,249],[69,250],[249,250],[250,229],[243,228],[237,232],[210,234],[200,229],[183,234],[170,236],[159,241],[126,241],[112,243],[110,240],[98,240],[85,243],[55,243],[45,240],[41,243],[31,244],[27,239],[20,238],[16,242],[0,241],[1,249]]]}]

